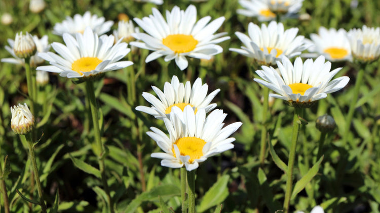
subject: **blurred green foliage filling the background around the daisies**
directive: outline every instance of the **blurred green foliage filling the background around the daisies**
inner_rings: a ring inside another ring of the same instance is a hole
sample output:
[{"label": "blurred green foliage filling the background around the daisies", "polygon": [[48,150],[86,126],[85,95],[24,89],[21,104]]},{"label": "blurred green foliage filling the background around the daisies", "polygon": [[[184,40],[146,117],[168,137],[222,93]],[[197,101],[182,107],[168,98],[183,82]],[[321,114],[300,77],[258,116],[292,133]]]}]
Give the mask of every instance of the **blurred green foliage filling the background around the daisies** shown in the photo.
[{"label": "blurred green foliage filling the background around the daisies", "polygon": [[[52,34],[53,26],[66,16],[92,14],[115,21],[124,13],[130,19],[151,14],[151,8],[161,12],[171,10],[175,5],[182,10],[189,4],[198,9],[198,19],[211,16],[226,18],[218,32],[227,32],[231,39],[222,42],[223,54],[215,56],[212,62],[191,60],[191,66],[184,71],[193,83],[202,77],[209,84],[209,91],[220,88],[214,102],[219,109],[227,112],[226,123],[242,121],[243,126],[233,136],[235,148],[208,159],[197,169],[196,187],[198,212],[213,212],[223,203],[222,212],[275,212],[281,209],[284,199],[285,175],[277,168],[267,150],[267,161],[261,169],[258,162],[261,121],[261,87],[253,82],[255,69],[252,61],[230,52],[229,47],[240,47],[236,31],[246,32],[249,22],[259,24],[255,18],[237,15],[240,8],[237,0],[209,0],[204,3],[191,1],[166,1],[161,6],[136,3],[131,0],[108,1],[45,1],[47,7],[39,14],[29,11],[28,1],[6,1],[0,3],[1,14],[13,17],[10,25],[0,27],[0,58],[10,58],[4,46],[7,39],[14,39],[17,32],[29,32],[39,37],[49,36],[49,42],[62,42],[61,37]],[[303,2],[300,15],[305,19],[283,20],[285,28],[298,27],[298,35],[309,38],[317,33],[320,26],[326,28],[361,28],[363,25],[380,26],[379,1],[315,0]],[[308,14],[309,16],[305,15]],[[108,32],[107,34],[110,34]],[[136,101],[128,99],[128,70],[108,72],[105,78],[96,82],[97,97],[103,115],[102,140],[107,145],[106,158],[108,184],[120,212],[160,212],[172,207],[180,211],[179,170],[160,166],[159,159],[150,153],[160,148],[145,132],[150,126],[165,129],[163,122],[136,112],[137,105],[148,105],[141,97],[142,91],[151,92],[150,86],[163,89],[171,76],[168,63],[159,59],[144,63],[147,50],[137,50],[131,56],[136,76]],[[357,69],[351,63],[333,63],[332,69],[343,67],[337,75],[347,75],[350,83],[345,89],[318,101],[307,110],[309,122],[302,129],[297,150],[296,179],[309,170],[316,162],[320,132],[315,120],[327,113],[335,119],[338,128],[330,134],[324,146],[324,159],[317,176],[292,202],[295,209],[310,211],[322,204],[325,212],[380,212],[380,75],[379,63],[373,63],[361,86],[353,124],[345,123],[345,115],[353,93]],[[96,167],[97,160],[92,153],[92,132],[88,101],[83,84],[73,84],[67,78],[49,74],[50,82],[40,86],[40,114],[36,120],[43,125],[39,136],[36,155],[41,173],[45,199],[48,207],[54,203],[58,191],[60,212],[100,212],[104,202],[104,191],[100,181],[91,174],[78,169],[76,159]],[[0,158],[3,168],[9,168],[5,176],[12,212],[39,211],[29,205],[16,193],[20,190],[28,197],[36,197],[25,141],[20,140],[10,128],[10,107],[25,102],[26,79],[22,66],[0,63]],[[271,119],[269,136],[276,153],[285,161],[290,146],[292,109],[281,100],[270,105]],[[46,116],[48,115],[48,116]],[[344,126],[352,125],[349,143],[340,143]],[[7,160],[5,163],[5,157]],[[314,157],[313,157],[314,156]],[[3,202],[3,201],[2,201]],[[26,209],[26,210],[25,210]]]}]

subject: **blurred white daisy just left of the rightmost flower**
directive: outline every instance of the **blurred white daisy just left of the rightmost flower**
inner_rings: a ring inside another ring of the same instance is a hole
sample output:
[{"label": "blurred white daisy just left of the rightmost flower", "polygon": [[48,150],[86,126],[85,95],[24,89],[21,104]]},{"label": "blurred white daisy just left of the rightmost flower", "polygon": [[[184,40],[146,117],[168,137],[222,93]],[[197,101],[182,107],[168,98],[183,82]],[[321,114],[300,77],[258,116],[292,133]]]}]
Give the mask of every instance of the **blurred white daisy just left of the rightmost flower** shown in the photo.
[{"label": "blurred white daisy just left of the rightmost flower", "polygon": [[312,33],[310,38],[313,46],[309,48],[309,51],[318,52],[329,61],[351,60],[351,46],[346,30],[320,27],[318,34]]}]

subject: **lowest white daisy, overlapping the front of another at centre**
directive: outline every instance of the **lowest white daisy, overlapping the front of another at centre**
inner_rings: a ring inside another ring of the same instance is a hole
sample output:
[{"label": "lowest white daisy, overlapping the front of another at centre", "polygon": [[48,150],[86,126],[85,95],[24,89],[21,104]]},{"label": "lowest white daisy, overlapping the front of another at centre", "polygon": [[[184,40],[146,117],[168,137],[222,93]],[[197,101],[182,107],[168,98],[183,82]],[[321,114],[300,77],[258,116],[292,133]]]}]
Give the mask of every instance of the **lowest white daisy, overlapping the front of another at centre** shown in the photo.
[{"label": "lowest white daisy, overlapping the front of another at centre", "polygon": [[182,112],[173,108],[170,120],[164,118],[169,137],[161,130],[151,127],[147,132],[164,152],[152,153],[151,157],[161,158],[161,166],[181,168],[187,171],[198,168],[199,163],[208,157],[232,149],[235,138],[229,138],[241,125],[241,122],[230,124],[223,128],[227,114],[222,110],[212,111],[206,118],[204,109],[195,114],[190,106]]}]

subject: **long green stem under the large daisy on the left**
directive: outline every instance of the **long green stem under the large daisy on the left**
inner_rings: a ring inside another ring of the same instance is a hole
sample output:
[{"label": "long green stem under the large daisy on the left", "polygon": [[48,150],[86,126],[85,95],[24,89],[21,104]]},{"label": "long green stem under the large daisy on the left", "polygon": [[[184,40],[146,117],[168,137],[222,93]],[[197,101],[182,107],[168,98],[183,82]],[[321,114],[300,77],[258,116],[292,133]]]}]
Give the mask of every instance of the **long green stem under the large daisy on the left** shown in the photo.
[{"label": "long green stem under the large daisy on the left", "polygon": [[90,102],[90,108],[91,108],[91,116],[92,116],[92,124],[94,126],[94,135],[95,135],[95,143],[97,146],[96,149],[96,155],[98,156],[98,163],[99,163],[99,170],[101,174],[101,181],[104,187],[104,191],[107,194],[107,201],[109,204],[109,211],[108,212],[114,212],[113,210],[113,202],[111,199],[111,195],[109,193],[109,188],[108,188],[108,183],[107,183],[107,178],[105,175],[105,165],[104,165],[104,157],[103,152],[104,152],[104,147],[103,143],[101,142],[100,138],[100,128],[99,128],[99,116],[98,116],[98,106],[96,103],[96,98],[95,98],[95,89],[94,89],[94,82],[92,80],[87,80],[86,81],[86,90],[87,90],[87,95],[89,97],[89,102]]}]

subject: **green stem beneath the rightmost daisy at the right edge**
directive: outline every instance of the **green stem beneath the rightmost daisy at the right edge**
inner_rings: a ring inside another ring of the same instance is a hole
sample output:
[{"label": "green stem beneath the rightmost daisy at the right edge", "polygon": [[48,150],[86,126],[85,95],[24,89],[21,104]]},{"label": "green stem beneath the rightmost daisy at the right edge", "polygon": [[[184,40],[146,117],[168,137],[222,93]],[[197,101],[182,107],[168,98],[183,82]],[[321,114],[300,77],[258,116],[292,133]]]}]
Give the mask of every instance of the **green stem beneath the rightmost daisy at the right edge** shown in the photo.
[{"label": "green stem beneath the rightmost daisy at the right edge", "polygon": [[363,76],[364,76],[364,69],[360,68],[359,73],[356,77],[354,95],[352,96],[350,100],[351,103],[350,103],[349,112],[347,114],[346,129],[345,129],[345,134],[343,135],[343,145],[346,145],[348,137],[349,137],[351,121],[354,116],[355,105],[359,97],[360,86],[363,83]]}]

